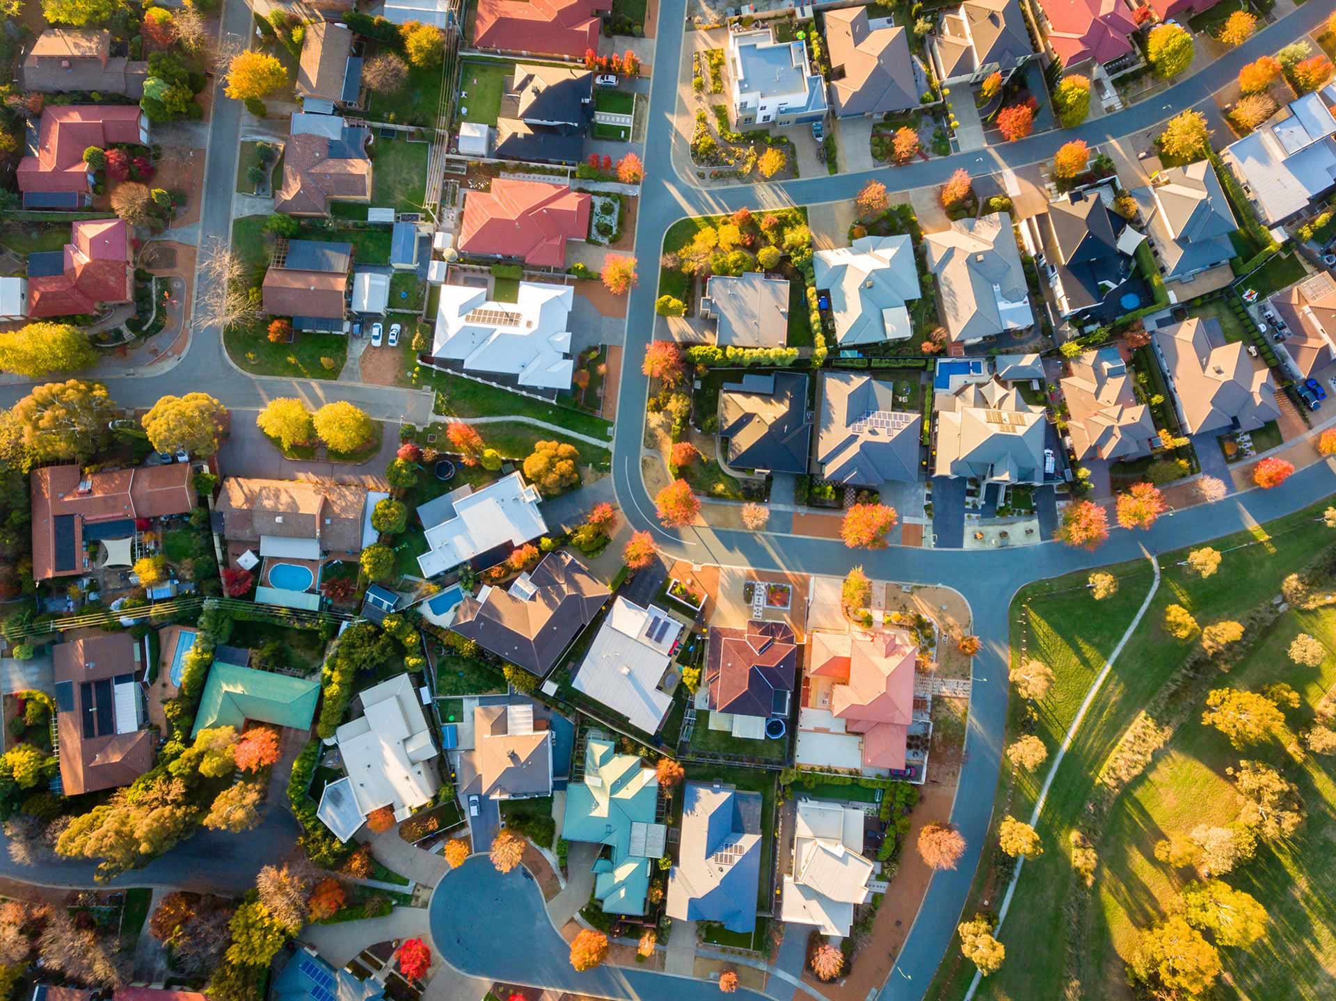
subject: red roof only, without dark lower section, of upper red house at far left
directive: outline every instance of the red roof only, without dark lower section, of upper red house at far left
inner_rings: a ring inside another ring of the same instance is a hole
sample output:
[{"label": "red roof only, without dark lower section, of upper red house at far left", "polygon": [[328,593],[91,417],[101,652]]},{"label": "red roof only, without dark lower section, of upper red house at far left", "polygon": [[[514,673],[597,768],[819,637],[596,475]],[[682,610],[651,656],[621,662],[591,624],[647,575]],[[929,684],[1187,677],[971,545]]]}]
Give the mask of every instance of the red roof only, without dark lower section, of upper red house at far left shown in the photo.
[{"label": "red roof only, without dark lower section, of upper red house at far left", "polygon": [[[20,191],[88,191],[90,146],[138,143],[138,104],[65,104],[41,112],[37,155],[19,162]],[[147,119],[144,119],[147,122]]]}]

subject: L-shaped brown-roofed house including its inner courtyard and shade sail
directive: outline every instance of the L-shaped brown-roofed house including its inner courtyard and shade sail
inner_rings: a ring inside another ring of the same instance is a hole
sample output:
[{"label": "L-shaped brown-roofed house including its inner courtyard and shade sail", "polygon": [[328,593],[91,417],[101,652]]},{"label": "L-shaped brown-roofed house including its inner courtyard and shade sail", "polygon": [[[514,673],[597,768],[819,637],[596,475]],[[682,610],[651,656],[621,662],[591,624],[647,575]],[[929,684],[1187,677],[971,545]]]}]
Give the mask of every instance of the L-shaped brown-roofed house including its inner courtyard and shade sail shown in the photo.
[{"label": "L-shaped brown-roofed house including its inner courtyard and shade sail", "polygon": [[[108,543],[130,543],[138,521],[188,515],[196,504],[195,470],[188,462],[108,469],[83,474],[77,465],[32,470],[33,580],[69,577],[94,567],[124,565]],[[156,528],[156,525],[155,525]],[[90,555],[98,544],[98,556]]]}]

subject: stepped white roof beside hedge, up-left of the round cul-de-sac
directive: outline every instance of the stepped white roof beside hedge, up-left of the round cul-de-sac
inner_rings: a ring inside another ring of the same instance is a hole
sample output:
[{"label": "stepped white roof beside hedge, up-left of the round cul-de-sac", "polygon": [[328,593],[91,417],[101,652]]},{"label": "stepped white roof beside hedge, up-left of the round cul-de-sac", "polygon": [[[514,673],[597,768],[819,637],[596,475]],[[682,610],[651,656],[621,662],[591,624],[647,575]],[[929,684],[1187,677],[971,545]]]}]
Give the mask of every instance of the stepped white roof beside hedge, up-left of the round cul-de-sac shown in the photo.
[{"label": "stepped white roof beside hedge, up-left of the round cul-de-sac", "polygon": [[[436,756],[422,706],[407,674],[374,684],[359,695],[363,715],[334,736],[351,780],[358,810],[366,817],[382,806],[397,818],[432,799],[440,782],[422,762]],[[422,755],[422,738],[430,754]],[[415,751],[415,752],[413,752]]]}]

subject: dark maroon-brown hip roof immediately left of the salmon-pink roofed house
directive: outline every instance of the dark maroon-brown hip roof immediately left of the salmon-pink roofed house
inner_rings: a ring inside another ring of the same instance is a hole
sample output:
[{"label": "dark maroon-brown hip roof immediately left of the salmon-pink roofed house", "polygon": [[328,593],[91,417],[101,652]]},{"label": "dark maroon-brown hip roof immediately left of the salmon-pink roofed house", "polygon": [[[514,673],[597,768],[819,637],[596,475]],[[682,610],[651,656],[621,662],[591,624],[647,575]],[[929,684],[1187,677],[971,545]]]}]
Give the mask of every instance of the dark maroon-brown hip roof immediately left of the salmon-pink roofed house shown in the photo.
[{"label": "dark maroon-brown hip roof immediately left of the salmon-pink roofed house", "polygon": [[705,684],[716,712],[768,716],[776,708],[775,692],[794,691],[796,674],[798,646],[788,623],[752,619],[745,629],[709,631]]}]

